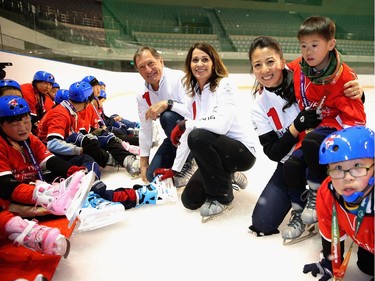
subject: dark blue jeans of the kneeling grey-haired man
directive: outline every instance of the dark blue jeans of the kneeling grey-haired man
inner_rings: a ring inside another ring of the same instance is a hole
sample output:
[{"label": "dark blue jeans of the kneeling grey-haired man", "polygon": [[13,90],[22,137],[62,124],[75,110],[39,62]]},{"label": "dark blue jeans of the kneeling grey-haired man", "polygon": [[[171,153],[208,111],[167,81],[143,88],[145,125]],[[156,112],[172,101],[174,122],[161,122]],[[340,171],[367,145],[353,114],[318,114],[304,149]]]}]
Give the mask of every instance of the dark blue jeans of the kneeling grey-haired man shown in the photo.
[{"label": "dark blue jeans of the kneeling grey-haired man", "polygon": [[148,181],[151,182],[155,178],[154,171],[157,168],[171,168],[173,166],[177,148],[172,144],[170,136],[174,127],[182,120],[184,118],[174,111],[166,110],[160,115],[160,125],[166,138],[159,146],[147,169],[146,176]]}]

